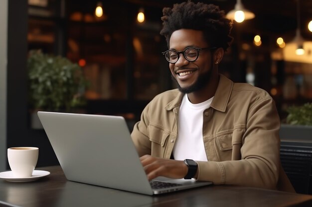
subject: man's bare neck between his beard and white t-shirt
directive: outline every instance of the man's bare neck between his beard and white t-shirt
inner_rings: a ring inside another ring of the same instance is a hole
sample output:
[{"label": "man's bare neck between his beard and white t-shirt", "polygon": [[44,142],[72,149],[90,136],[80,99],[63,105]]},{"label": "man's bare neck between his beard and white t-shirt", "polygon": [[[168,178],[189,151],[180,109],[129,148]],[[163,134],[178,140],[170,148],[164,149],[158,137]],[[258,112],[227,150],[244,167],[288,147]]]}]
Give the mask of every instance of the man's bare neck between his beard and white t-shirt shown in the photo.
[{"label": "man's bare neck between his beard and white t-shirt", "polygon": [[187,94],[188,100],[192,104],[202,103],[214,96],[219,84],[219,74],[215,74],[210,78],[209,83],[201,90]]}]

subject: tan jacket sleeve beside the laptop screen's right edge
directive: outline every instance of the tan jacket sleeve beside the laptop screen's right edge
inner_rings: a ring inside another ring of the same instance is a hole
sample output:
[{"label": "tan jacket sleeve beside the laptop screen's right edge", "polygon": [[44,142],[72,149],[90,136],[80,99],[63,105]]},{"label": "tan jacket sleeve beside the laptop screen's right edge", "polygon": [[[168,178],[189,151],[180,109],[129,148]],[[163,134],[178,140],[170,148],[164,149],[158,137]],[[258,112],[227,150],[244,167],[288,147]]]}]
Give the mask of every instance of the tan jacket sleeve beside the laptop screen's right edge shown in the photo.
[{"label": "tan jacket sleeve beside the laptop screen's right edge", "polygon": [[149,116],[148,111],[151,103],[149,103],[141,114],[141,120],[137,122],[131,133],[131,138],[135,144],[139,156],[151,154],[151,141],[148,133]]}]

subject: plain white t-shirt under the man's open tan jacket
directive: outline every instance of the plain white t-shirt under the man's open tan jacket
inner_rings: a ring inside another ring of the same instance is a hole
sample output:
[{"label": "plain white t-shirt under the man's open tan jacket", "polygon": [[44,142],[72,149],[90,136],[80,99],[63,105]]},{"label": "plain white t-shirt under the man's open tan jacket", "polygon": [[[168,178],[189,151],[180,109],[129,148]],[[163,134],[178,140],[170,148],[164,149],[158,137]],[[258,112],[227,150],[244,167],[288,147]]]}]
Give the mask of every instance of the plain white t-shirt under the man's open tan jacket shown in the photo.
[{"label": "plain white t-shirt under the man's open tan jacket", "polygon": [[207,161],[202,138],[203,112],[210,107],[212,98],[192,104],[184,95],[179,111],[178,137],[173,147],[175,160]]}]

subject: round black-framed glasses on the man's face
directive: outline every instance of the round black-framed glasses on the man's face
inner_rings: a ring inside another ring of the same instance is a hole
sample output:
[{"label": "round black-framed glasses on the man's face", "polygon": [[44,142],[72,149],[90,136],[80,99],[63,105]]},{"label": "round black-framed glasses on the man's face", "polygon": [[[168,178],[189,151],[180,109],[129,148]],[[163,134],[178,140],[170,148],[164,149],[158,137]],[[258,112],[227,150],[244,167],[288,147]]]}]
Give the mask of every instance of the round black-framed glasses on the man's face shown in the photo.
[{"label": "round black-framed glasses on the man's face", "polygon": [[217,47],[210,47],[210,48],[187,47],[183,51],[167,50],[165,52],[162,52],[161,54],[166,57],[166,60],[169,63],[176,63],[179,60],[181,53],[183,54],[184,58],[187,61],[193,62],[197,60],[200,50],[213,50],[216,48]]}]

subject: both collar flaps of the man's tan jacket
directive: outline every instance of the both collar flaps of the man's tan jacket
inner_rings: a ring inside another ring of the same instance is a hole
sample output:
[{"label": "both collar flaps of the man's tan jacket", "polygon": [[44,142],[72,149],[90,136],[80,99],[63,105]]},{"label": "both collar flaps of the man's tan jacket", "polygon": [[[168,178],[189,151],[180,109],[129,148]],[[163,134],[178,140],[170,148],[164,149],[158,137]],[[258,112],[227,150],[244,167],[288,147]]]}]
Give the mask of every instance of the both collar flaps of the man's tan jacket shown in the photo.
[{"label": "both collar flaps of the man's tan jacket", "polygon": [[[232,92],[233,88],[233,81],[228,79],[222,74],[219,74],[220,79],[219,79],[219,84],[216,90],[216,93],[214,94],[214,98],[211,103],[211,107],[214,108],[215,110],[225,112],[226,106],[229,102],[230,95]],[[172,110],[173,108],[178,107],[181,104],[182,98],[184,96],[184,93],[181,93],[177,90],[177,96],[169,102],[165,109],[166,110]]]}]

